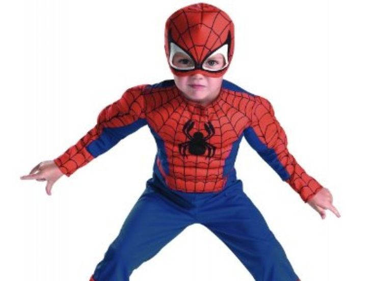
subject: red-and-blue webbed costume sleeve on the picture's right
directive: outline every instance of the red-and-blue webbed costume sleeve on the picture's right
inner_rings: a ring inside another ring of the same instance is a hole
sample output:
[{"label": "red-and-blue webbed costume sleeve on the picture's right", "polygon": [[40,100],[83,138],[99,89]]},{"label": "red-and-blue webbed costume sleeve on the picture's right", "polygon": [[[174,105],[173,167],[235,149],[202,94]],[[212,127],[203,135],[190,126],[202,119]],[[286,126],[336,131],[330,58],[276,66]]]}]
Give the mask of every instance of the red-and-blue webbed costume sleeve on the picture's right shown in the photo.
[{"label": "red-and-blue webbed costume sleeve on the picture's right", "polygon": [[286,181],[304,202],[323,188],[309,176],[287,149],[287,137],[277,121],[271,103],[256,96],[251,110],[251,126],[245,138],[257,153]]}]

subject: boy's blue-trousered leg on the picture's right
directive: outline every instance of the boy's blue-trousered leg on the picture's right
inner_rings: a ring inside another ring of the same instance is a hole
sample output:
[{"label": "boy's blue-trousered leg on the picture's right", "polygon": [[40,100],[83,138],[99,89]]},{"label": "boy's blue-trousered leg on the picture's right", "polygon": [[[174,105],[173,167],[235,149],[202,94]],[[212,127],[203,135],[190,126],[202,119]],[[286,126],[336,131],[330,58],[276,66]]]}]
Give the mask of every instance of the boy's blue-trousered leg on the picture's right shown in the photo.
[{"label": "boy's blue-trousered leg on the picture's right", "polygon": [[230,189],[206,209],[202,224],[230,248],[256,281],[298,281],[282,246],[242,184]]}]

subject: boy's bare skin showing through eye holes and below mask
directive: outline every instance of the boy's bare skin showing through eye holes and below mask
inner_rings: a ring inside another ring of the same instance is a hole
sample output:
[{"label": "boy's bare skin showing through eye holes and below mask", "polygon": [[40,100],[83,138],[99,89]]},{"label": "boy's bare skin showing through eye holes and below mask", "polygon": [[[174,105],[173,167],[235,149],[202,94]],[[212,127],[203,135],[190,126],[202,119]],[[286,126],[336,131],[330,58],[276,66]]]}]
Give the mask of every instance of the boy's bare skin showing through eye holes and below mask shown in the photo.
[{"label": "boy's bare skin showing through eye holes and below mask", "polygon": [[[218,53],[208,58],[203,65],[204,69],[217,70],[223,67],[225,60],[222,54]],[[194,68],[194,61],[180,52],[173,57],[173,65],[180,69]],[[209,77],[201,73],[177,76],[173,75],[177,88],[185,95],[187,99],[198,102],[202,105],[208,104],[215,99],[220,92],[223,81],[221,77]]]}]

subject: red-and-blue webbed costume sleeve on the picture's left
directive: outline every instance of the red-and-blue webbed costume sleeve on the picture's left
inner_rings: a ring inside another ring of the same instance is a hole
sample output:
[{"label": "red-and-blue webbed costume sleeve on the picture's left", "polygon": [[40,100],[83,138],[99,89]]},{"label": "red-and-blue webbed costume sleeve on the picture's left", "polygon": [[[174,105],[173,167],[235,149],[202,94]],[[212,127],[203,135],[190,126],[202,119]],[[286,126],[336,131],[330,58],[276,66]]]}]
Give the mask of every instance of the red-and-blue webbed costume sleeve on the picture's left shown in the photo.
[{"label": "red-and-blue webbed costume sleeve on the picture's left", "polygon": [[62,173],[70,177],[78,168],[147,124],[143,96],[146,86],[132,87],[126,90],[119,100],[104,107],[99,113],[97,124],[75,145],[53,159]]}]

